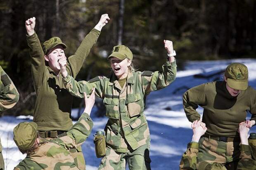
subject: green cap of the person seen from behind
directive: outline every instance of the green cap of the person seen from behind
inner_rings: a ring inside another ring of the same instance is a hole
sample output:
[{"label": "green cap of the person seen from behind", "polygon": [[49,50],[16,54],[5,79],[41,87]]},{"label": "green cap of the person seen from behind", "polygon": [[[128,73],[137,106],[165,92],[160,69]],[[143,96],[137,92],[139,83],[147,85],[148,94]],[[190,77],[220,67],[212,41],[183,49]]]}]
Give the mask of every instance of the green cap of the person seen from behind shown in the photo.
[{"label": "green cap of the person seen from behind", "polygon": [[13,129],[13,140],[21,150],[30,149],[37,138],[35,122],[21,122]]}]

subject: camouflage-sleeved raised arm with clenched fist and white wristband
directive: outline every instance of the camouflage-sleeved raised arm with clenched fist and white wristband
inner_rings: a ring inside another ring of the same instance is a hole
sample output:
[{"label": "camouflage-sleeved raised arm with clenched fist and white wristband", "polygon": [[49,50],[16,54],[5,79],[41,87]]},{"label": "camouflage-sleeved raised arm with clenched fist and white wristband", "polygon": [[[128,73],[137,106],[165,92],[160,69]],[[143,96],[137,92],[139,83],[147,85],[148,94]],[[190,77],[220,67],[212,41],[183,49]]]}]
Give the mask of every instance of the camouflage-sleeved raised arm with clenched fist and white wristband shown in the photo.
[{"label": "camouflage-sleeved raised arm with clenched fist and white wristband", "polygon": [[168,40],[164,40],[164,47],[168,52],[168,61],[162,65],[161,71],[144,71],[142,72],[142,88],[145,95],[148,95],[152,91],[159,90],[171,84],[176,77],[176,62],[173,50],[173,43]]}]

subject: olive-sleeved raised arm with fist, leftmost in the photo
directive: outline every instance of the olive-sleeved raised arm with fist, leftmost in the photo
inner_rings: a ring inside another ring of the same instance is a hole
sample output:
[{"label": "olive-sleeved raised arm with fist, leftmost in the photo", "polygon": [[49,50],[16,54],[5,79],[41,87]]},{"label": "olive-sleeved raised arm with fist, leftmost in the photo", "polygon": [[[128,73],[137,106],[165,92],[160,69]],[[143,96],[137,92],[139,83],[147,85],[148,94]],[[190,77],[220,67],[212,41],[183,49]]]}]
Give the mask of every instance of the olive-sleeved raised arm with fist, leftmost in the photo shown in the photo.
[{"label": "olive-sleeved raised arm with fist, leftmost in the photo", "polygon": [[32,79],[37,93],[45,70],[45,55],[40,40],[34,31],[35,26],[35,17],[26,20],[25,27],[27,30],[28,47],[30,48]]}]

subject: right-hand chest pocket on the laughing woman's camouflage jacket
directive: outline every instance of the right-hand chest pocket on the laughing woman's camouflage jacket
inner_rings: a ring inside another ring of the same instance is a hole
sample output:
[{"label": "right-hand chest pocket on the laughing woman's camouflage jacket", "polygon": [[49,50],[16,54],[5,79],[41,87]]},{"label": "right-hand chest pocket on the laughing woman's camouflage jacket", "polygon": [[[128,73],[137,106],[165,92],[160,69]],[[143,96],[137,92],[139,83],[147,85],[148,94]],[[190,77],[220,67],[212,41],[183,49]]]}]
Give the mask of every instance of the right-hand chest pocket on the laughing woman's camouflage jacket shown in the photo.
[{"label": "right-hand chest pocket on the laughing woman's camouflage jacket", "polygon": [[143,112],[144,102],[140,93],[127,94],[126,105],[130,117],[141,114]]}]

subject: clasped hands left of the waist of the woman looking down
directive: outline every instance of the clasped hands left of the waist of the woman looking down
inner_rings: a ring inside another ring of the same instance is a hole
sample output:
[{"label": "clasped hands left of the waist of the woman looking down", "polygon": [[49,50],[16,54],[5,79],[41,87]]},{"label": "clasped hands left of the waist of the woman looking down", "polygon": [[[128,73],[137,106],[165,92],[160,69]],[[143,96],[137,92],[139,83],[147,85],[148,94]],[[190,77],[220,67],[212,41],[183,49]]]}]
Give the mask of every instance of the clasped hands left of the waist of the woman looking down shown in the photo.
[{"label": "clasped hands left of the waist of the woman looking down", "polygon": [[207,128],[201,126],[201,120],[196,120],[192,123],[191,128],[193,128],[192,142],[199,142],[199,139],[206,132]]}]

